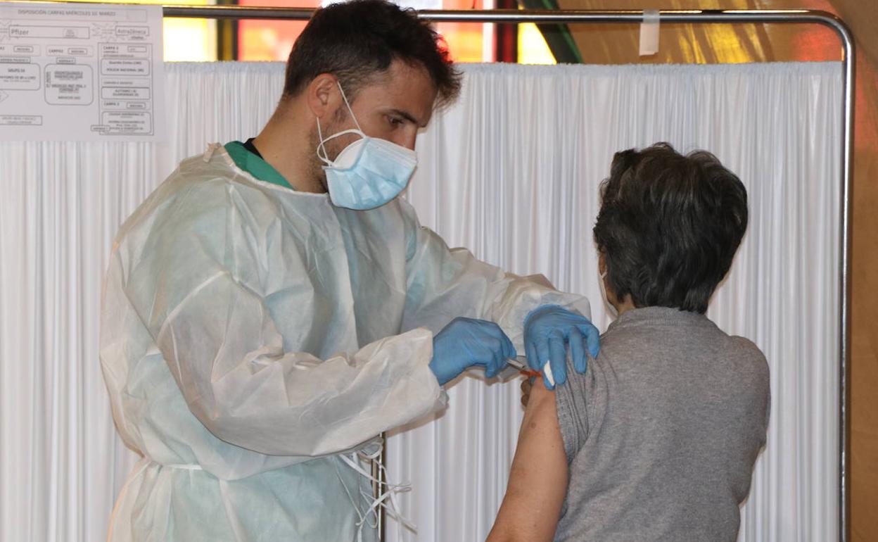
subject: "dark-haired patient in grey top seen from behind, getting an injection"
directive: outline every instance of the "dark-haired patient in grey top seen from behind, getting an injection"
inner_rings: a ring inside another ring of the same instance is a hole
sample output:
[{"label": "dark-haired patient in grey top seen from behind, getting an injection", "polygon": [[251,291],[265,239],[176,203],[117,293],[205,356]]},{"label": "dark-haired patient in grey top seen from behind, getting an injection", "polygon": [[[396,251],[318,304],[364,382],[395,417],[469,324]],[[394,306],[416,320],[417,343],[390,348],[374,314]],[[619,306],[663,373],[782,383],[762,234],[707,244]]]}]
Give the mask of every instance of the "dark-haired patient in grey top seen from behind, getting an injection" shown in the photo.
[{"label": "dark-haired patient in grey top seen from behind, getting an injection", "polygon": [[594,226],[618,318],[587,372],[530,392],[488,540],[735,540],[765,444],[768,366],[704,315],[747,226],[714,155],[617,153]]}]

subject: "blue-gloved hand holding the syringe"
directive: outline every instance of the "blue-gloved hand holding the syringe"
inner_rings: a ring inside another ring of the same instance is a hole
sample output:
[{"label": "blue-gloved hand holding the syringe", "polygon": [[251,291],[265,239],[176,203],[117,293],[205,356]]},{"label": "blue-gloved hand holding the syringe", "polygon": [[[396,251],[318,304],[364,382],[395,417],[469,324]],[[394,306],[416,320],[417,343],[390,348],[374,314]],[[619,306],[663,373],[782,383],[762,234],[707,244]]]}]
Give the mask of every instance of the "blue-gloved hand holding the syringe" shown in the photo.
[{"label": "blue-gloved hand holding the syringe", "polygon": [[474,318],[455,318],[433,337],[433,359],[430,369],[444,386],[467,367],[485,367],[485,376],[492,378],[506,366],[507,358],[515,358],[515,346],[494,322]]}]

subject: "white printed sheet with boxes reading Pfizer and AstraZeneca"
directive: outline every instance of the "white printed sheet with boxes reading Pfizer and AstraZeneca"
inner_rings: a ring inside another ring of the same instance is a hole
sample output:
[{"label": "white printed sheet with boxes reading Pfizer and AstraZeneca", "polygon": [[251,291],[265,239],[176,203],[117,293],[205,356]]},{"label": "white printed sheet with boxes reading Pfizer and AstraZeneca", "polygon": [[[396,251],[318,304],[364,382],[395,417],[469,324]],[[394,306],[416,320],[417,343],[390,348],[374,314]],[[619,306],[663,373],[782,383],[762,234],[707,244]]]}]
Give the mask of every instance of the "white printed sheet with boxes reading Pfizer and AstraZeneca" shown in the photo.
[{"label": "white printed sheet with boxes reading Pfizer and AstraZeneca", "polygon": [[0,140],[156,141],[161,6],[0,4]]}]

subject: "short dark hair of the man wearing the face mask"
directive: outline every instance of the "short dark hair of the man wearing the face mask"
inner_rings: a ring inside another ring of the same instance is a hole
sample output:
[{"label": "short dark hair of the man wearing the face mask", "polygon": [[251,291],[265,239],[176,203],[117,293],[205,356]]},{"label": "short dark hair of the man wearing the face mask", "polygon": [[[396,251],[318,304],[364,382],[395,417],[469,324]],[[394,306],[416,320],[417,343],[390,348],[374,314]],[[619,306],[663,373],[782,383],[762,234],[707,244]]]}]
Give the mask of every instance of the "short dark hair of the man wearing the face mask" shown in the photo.
[{"label": "short dark hair of the man wearing the face mask", "polygon": [[292,46],[286,64],[284,97],[295,96],[316,76],[333,74],[349,98],[401,60],[427,70],[438,105],[460,91],[460,73],[443,38],[417,17],[385,0],[351,0],[314,12]]}]

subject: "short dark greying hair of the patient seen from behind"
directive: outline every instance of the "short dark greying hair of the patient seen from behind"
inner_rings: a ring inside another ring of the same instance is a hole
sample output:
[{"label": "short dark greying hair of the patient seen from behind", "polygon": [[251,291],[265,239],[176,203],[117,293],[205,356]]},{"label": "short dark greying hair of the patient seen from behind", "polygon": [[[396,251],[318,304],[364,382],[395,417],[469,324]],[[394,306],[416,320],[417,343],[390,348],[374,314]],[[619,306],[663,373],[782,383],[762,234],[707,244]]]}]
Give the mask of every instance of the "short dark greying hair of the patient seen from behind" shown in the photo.
[{"label": "short dark greying hair of the patient seen from behind", "polygon": [[616,153],[594,242],[608,284],[635,307],[704,313],[747,228],[747,191],[715,155],[667,143]]}]

